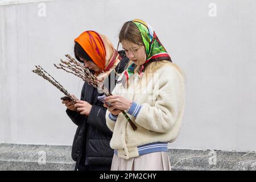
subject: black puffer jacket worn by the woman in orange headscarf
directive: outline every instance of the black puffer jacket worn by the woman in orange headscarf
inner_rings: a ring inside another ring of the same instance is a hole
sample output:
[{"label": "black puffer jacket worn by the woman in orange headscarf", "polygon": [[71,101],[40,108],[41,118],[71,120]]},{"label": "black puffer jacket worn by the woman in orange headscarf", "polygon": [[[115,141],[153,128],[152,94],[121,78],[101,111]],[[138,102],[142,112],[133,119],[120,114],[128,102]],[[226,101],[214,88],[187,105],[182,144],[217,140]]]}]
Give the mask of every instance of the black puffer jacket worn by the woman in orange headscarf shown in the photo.
[{"label": "black puffer jacket worn by the woman in orange headscarf", "polygon": [[[123,51],[119,51],[119,55],[123,59],[115,68],[115,71],[122,73],[129,60]],[[115,79],[113,81],[113,78],[111,80],[109,76],[107,82],[109,85],[115,85],[115,81]],[[98,96],[102,96],[102,94],[85,82],[81,92],[81,100],[92,105],[89,116],[86,117],[69,109],[66,111],[73,123],[78,126],[72,146],[72,159],[76,161],[76,169],[110,170],[114,154],[109,144],[112,131],[106,126],[106,107],[103,106],[101,101],[97,100]]]}]

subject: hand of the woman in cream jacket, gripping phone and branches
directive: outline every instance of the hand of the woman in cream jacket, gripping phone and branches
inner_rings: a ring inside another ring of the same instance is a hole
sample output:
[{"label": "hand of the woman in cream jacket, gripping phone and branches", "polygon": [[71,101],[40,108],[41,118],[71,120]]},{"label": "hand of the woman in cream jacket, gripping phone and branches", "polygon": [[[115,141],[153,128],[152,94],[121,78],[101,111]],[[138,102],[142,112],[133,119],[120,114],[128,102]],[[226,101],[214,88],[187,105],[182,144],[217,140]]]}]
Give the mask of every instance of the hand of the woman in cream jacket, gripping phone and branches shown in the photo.
[{"label": "hand of the woman in cream jacket, gripping phone and branches", "polygon": [[[112,105],[112,107],[108,107],[109,111],[110,110],[113,111],[114,109],[127,110],[131,105],[131,101],[127,100],[126,98],[124,98],[122,96],[118,96],[118,95],[105,97],[104,99],[105,99],[105,102],[109,102]],[[104,105],[106,105],[106,104],[104,104]],[[116,114],[114,114],[114,115],[116,115]]]}]

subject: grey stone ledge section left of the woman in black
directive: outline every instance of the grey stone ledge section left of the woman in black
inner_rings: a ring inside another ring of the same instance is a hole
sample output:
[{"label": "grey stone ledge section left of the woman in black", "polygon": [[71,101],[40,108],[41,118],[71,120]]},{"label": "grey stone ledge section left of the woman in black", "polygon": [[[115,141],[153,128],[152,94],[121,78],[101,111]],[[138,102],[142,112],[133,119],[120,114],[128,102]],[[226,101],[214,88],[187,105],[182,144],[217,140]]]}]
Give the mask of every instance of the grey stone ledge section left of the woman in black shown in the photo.
[{"label": "grey stone ledge section left of the woman in black", "polygon": [[71,146],[0,144],[0,170],[73,170]]}]

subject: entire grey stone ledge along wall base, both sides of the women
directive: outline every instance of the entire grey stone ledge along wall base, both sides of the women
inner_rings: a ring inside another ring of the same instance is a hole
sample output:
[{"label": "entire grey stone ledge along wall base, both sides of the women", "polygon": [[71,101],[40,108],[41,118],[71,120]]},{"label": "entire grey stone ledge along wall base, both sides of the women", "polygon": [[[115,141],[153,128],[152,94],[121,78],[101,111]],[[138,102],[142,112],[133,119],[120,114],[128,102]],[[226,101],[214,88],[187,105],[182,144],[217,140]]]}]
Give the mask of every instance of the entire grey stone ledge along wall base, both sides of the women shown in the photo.
[{"label": "entire grey stone ledge along wall base, both sides of the women", "polygon": [[[172,170],[252,170],[255,152],[170,149]],[[73,170],[71,146],[0,144],[0,170]]]}]

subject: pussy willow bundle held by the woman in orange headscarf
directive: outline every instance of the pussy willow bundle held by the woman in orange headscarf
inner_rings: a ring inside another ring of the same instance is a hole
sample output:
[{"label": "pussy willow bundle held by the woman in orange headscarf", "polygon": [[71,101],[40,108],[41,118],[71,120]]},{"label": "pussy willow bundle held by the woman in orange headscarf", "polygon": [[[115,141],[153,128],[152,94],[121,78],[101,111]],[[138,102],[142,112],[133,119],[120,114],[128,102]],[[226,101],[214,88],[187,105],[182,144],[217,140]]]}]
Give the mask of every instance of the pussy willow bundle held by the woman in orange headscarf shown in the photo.
[{"label": "pussy willow bundle held by the woman in orange headscarf", "polygon": [[53,78],[51,75],[49,75],[49,73],[47,73],[42,67],[38,65],[34,70],[32,70],[32,72],[48,80],[52,85],[56,86],[56,88],[59,89],[60,92],[64,93],[65,96],[70,98],[74,104],[76,103],[76,100],[71,96],[71,94],[69,94],[68,91],[64,89],[64,87],[60,85],[60,83],[57,82],[55,78]]}]

